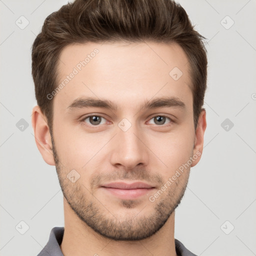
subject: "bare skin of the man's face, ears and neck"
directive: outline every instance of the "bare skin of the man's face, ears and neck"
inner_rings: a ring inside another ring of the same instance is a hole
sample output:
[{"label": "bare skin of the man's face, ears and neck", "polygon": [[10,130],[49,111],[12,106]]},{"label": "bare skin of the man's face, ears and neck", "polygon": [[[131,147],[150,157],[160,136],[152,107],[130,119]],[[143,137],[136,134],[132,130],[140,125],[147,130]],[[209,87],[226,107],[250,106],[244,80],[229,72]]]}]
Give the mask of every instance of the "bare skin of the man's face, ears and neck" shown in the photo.
[{"label": "bare skin of the man's face, ears and neck", "polygon": [[[64,256],[176,255],[175,208],[190,167],[200,159],[206,128],[202,110],[194,129],[188,59],[175,43],[72,44],[61,51],[59,83],[94,48],[98,54],[52,99],[52,137],[40,108],[32,110],[36,145],[45,162],[56,166],[64,195],[60,248]],[[169,75],[173,67],[183,73],[178,80]],[[166,96],[184,107],[141,108],[144,101]],[[118,107],[68,108],[79,97],[107,99]],[[85,119],[89,114],[101,121]],[[166,118],[161,122],[157,116]],[[131,125],[126,131],[118,126],[123,118]],[[189,167],[150,201],[195,154]],[[79,173],[75,182],[67,178],[72,169]],[[154,188],[122,199],[101,187],[112,181],[144,181]]]}]

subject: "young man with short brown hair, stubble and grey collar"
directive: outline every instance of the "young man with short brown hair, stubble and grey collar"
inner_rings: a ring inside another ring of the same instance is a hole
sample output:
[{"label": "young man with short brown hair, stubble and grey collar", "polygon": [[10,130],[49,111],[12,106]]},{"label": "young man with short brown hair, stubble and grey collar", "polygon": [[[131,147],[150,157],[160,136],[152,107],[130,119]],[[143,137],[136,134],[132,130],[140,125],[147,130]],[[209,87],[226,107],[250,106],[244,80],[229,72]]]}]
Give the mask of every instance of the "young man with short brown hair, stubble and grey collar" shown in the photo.
[{"label": "young man with short brown hair, stubble and grey collar", "polygon": [[171,0],[75,0],[45,19],[32,126],[65,224],[38,255],[195,255],[174,213],[203,148],[201,40]]}]

